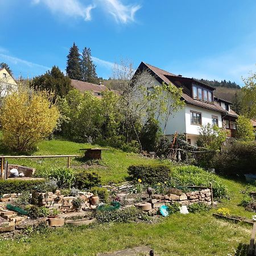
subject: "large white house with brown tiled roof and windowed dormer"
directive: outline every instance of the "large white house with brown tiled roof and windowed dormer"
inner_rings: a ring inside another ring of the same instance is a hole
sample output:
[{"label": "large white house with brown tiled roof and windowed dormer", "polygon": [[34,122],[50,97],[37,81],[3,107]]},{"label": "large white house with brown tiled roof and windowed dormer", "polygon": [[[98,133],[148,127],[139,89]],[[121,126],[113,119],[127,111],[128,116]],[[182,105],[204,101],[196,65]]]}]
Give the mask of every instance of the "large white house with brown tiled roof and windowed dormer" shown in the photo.
[{"label": "large white house with brown tiled roof and windowed dormer", "polygon": [[[228,137],[234,137],[238,115],[230,108],[232,102],[214,97],[215,88],[196,79],[174,75],[163,69],[142,62],[135,76],[149,76],[146,79],[154,85],[174,84],[183,88],[184,109],[175,113],[168,121],[166,136],[175,132],[186,134],[187,142],[196,146],[201,125],[217,125],[228,130]],[[163,128],[163,125],[161,125]]]}]

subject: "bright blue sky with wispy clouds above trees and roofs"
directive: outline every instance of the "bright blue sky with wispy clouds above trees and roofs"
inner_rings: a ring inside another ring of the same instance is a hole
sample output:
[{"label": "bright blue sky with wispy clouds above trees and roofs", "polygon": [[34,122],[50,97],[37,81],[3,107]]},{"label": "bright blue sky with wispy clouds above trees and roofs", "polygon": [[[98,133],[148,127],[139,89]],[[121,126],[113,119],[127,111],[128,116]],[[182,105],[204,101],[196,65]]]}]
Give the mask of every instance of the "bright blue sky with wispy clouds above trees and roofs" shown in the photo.
[{"label": "bright blue sky with wispy clouds above trees and roofs", "polygon": [[0,62],[15,77],[64,71],[73,42],[104,78],[121,57],[240,85],[256,69],[255,0],[0,0],[0,10]]}]

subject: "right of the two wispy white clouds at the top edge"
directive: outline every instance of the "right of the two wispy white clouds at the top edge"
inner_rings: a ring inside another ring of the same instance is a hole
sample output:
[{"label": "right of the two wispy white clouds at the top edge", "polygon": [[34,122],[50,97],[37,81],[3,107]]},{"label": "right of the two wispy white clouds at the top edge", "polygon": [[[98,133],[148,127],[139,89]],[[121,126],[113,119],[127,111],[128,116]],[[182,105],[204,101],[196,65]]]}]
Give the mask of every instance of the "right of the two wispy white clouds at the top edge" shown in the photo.
[{"label": "right of the two wispy white clouds at the top edge", "polygon": [[135,13],[141,9],[140,5],[123,5],[119,0],[100,0],[102,7],[114,16],[116,22],[134,22]]}]

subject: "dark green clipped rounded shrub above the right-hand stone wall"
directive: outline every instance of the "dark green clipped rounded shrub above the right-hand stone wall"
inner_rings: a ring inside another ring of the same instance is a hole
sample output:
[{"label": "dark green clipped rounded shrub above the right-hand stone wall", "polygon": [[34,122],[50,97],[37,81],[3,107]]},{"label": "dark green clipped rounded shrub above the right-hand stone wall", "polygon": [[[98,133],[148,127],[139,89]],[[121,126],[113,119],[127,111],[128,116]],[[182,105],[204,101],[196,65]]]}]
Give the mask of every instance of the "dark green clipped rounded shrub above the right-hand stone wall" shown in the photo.
[{"label": "dark green clipped rounded shrub above the right-hand stone wall", "polygon": [[143,183],[158,184],[170,179],[170,168],[162,164],[129,166],[128,173],[133,180],[141,179]]}]

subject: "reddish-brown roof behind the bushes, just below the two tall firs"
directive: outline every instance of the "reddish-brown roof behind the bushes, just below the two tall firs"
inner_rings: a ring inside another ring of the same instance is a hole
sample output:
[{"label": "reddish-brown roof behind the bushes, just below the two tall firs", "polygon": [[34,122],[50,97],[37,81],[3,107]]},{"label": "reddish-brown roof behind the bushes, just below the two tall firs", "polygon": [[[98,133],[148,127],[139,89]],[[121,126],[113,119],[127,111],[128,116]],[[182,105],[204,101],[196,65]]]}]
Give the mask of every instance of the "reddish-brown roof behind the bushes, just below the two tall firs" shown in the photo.
[{"label": "reddish-brown roof behind the bushes, just below the two tall firs", "polygon": [[109,90],[104,84],[92,84],[90,82],[83,82],[71,79],[71,86],[81,93],[92,92],[94,96],[101,98],[102,92]]}]

